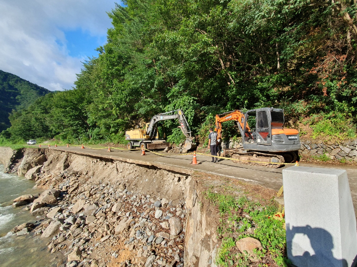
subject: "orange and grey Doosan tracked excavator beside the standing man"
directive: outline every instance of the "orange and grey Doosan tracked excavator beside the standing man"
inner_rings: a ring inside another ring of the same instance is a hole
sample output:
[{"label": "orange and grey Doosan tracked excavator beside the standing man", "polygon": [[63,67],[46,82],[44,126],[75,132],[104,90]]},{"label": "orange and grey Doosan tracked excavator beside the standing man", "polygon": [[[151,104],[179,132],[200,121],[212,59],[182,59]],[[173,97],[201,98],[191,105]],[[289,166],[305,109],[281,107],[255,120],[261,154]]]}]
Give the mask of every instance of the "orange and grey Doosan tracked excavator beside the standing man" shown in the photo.
[{"label": "orange and grey Doosan tracked excavator beside the standing man", "polygon": [[222,143],[222,123],[234,120],[242,135],[242,147],[223,150],[239,163],[278,168],[295,162],[300,149],[299,131],[284,129],[284,110],[273,107],[236,109],[216,115],[218,146]]}]

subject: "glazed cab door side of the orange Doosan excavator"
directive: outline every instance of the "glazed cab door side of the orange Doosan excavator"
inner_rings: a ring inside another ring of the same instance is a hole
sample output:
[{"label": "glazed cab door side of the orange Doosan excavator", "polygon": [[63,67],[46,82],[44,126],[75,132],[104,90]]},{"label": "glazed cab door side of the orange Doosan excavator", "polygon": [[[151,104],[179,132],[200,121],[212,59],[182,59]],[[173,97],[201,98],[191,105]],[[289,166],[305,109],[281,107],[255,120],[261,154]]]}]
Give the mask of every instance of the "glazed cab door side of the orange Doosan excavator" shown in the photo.
[{"label": "glazed cab door side of the orange Doosan excavator", "polygon": [[244,149],[256,149],[257,146],[272,145],[271,109],[252,109],[244,118]]}]

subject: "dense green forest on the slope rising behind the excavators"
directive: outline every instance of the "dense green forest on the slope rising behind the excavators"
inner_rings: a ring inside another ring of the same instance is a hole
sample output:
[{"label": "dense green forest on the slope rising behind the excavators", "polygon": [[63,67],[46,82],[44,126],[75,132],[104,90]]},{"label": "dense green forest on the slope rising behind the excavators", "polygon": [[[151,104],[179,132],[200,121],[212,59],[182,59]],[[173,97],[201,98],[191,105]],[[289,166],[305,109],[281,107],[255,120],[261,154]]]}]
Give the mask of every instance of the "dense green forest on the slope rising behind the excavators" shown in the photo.
[{"label": "dense green forest on the slope rising behind the excavators", "polygon": [[75,88],[14,111],[0,140],[117,143],[177,108],[203,136],[217,113],[264,106],[313,137],[355,137],[356,11],[356,0],[124,1]]}]

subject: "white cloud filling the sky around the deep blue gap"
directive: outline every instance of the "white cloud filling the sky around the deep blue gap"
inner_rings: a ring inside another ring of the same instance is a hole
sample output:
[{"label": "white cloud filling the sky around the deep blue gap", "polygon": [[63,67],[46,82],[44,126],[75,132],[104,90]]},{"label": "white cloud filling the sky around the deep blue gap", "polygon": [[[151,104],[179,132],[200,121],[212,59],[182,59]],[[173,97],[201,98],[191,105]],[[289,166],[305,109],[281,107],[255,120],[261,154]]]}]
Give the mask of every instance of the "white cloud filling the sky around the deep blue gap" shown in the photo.
[{"label": "white cloud filling the sky around the deep blue gap", "polygon": [[0,69],[50,90],[71,89],[85,58],[69,56],[64,31],[103,38],[114,7],[110,0],[0,0]]}]

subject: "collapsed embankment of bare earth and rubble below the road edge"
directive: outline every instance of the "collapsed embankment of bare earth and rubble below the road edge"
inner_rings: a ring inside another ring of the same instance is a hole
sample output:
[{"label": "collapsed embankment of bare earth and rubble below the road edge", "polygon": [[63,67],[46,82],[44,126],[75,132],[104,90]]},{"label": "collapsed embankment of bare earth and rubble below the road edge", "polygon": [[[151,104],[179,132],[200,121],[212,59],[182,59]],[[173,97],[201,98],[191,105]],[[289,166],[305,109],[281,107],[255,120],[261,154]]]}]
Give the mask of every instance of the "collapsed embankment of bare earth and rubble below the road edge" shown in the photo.
[{"label": "collapsed embankment of bare earth and rubble below the road edge", "polygon": [[64,254],[59,266],[216,265],[206,179],[52,150],[17,157],[13,170],[50,190],[25,206],[35,225],[15,231],[41,235]]}]

